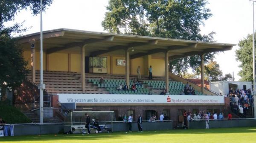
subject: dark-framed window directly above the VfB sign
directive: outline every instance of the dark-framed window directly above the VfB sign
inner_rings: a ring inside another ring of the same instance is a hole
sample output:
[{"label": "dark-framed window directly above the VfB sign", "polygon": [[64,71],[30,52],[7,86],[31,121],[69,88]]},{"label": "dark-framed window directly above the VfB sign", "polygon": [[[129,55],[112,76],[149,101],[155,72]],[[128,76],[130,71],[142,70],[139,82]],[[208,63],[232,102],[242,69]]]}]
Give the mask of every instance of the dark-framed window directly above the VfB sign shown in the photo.
[{"label": "dark-framed window directly above the VfB sign", "polygon": [[107,57],[90,57],[90,68],[107,68]]}]

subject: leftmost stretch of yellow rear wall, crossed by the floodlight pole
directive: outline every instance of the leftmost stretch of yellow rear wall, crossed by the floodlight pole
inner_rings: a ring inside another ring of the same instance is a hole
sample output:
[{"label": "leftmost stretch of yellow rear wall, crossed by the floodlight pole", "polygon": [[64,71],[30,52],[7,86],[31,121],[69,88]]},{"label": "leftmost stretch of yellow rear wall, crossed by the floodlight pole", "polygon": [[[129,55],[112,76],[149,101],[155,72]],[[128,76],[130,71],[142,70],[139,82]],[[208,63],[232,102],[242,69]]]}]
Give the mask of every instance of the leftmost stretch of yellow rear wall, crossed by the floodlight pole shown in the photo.
[{"label": "leftmost stretch of yellow rear wall, crossed by the floodlight pole", "polygon": [[[44,66],[43,69],[46,69],[46,54],[43,53]],[[28,61],[27,69],[31,69],[31,51],[23,51],[23,58],[25,61]],[[40,52],[35,52],[35,70],[40,70]]]}]

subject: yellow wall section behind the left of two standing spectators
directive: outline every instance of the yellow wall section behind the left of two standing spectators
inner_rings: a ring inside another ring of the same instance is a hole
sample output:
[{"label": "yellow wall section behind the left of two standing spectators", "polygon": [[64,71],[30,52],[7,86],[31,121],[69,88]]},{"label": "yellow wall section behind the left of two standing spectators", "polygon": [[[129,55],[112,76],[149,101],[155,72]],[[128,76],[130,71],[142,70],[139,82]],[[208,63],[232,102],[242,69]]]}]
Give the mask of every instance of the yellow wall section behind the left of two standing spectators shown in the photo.
[{"label": "yellow wall section behind the left of two standing spectators", "polygon": [[130,74],[137,75],[138,66],[140,66],[140,74],[145,75],[144,74],[144,59],[143,59],[143,57],[131,60],[131,73]]}]

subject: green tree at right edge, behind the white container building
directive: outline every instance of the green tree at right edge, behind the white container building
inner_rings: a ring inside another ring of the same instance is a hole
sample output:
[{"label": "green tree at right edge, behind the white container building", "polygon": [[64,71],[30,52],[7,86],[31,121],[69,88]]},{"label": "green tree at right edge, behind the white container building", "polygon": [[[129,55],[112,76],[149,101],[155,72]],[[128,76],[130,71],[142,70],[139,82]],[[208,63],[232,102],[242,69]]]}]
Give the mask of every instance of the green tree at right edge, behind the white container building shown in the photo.
[{"label": "green tree at right edge, behind the white container building", "polygon": [[241,81],[253,82],[253,34],[239,41],[239,49],[236,50],[236,61],[241,62],[238,75]]}]

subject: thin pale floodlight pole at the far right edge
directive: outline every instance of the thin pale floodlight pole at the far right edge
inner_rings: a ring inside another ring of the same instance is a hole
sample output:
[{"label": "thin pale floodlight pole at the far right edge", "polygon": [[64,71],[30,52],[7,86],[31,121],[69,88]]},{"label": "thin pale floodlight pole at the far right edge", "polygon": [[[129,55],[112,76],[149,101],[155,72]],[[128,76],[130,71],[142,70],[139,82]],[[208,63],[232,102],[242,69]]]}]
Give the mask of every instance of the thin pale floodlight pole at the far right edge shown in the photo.
[{"label": "thin pale floodlight pole at the far right edge", "polygon": [[256,81],[255,81],[255,39],[254,39],[254,0],[250,0],[253,2],[253,105],[254,105],[254,119],[256,119],[256,100],[255,100],[255,94],[256,94]]}]

